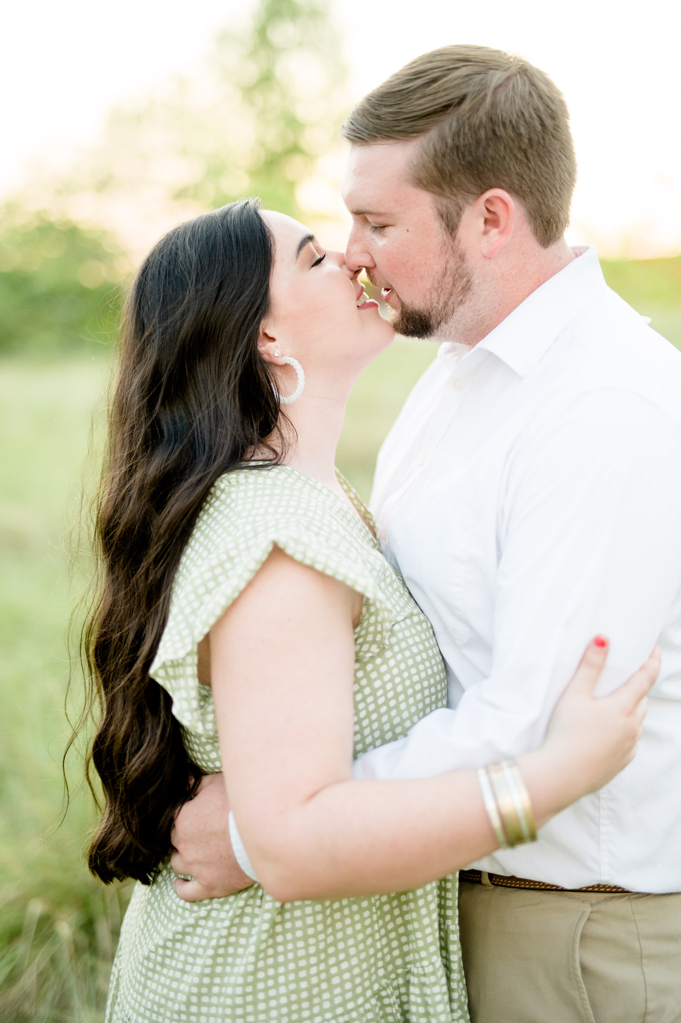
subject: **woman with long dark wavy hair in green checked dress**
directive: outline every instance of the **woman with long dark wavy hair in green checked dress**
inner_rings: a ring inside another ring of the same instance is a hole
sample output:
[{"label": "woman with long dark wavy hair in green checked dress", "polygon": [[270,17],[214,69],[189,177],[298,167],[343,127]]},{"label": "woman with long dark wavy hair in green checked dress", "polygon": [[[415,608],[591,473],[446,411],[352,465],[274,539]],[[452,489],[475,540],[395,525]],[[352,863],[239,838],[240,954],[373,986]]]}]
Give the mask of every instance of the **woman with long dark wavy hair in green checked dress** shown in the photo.
[{"label": "woman with long dark wavy hair in green checked dress", "polygon": [[[106,797],[90,865],[141,882],[109,1023],[464,1019],[449,875],[633,756],[656,658],[593,700],[597,640],[514,765],[352,781],[353,748],[446,701],[429,625],[333,466],[351,387],[392,338],[342,254],[254,202],[171,231],[133,283],[88,639]],[[261,884],[186,903],[173,813],[221,768]]]}]

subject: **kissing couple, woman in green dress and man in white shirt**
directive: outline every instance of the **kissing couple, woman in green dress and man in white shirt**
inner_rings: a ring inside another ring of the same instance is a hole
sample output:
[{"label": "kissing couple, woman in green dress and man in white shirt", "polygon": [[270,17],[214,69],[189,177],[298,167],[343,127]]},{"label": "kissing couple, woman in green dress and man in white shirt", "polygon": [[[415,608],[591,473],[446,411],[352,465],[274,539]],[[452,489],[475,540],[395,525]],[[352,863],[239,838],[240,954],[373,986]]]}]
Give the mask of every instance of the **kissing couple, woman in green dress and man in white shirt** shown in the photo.
[{"label": "kissing couple, woman in green dress and man in white shirt", "polygon": [[[108,1023],[679,1021],[681,353],[568,247],[538,69],[444,47],[343,134],[345,254],[244,199],[131,285],[88,633],[89,862],[138,881]],[[396,331],[442,344],[369,511],[335,447]]]}]

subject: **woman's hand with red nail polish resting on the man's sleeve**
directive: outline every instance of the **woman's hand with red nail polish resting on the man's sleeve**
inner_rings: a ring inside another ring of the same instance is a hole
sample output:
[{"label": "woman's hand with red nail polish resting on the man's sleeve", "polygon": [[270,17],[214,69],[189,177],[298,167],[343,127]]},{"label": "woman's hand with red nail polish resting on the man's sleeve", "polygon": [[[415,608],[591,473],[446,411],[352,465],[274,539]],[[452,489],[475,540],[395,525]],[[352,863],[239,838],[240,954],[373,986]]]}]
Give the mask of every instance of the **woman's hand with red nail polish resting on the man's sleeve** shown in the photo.
[{"label": "woman's hand with red nail polish resting on the man's sleeve", "polygon": [[[593,691],[607,651],[607,640],[601,636],[589,643],[556,704],[543,745],[536,753],[518,758],[524,774],[529,768],[526,781],[533,787],[537,766],[546,771],[545,777],[563,807],[601,789],[633,760],[647,710],[647,694],[660,671],[661,654],[655,647],[629,681],[609,696],[595,697]],[[560,777],[563,785],[558,782]]]}]

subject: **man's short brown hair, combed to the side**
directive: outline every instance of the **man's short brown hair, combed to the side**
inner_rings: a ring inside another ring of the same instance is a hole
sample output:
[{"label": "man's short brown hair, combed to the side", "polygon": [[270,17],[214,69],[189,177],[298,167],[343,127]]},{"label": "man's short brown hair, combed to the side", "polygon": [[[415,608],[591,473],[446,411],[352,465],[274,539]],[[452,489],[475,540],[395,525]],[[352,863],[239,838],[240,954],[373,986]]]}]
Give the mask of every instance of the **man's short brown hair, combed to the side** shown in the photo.
[{"label": "man's short brown hair, combed to the side", "polygon": [[568,226],[577,175],[568,107],[521,57],[485,46],[424,53],[365,96],[343,135],[355,145],[423,136],[412,180],[444,201],[451,229],[488,188],[523,204],[544,247]]}]

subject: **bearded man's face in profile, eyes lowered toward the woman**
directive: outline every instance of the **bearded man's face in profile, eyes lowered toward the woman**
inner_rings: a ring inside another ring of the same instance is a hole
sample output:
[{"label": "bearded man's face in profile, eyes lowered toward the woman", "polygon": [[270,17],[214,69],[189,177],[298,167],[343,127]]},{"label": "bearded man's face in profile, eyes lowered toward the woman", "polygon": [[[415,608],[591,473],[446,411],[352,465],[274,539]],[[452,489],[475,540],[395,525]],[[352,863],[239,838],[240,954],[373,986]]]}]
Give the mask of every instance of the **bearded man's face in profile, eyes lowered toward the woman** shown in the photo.
[{"label": "bearded man's face in profile, eyes lowered toward the woman", "polygon": [[353,218],[346,262],[365,268],[394,327],[430,338],[446,329],[471,287],[463,253],[436,198],[409,180],[418,140],[353,145],[343,197]]}]

